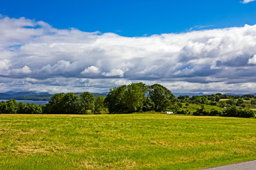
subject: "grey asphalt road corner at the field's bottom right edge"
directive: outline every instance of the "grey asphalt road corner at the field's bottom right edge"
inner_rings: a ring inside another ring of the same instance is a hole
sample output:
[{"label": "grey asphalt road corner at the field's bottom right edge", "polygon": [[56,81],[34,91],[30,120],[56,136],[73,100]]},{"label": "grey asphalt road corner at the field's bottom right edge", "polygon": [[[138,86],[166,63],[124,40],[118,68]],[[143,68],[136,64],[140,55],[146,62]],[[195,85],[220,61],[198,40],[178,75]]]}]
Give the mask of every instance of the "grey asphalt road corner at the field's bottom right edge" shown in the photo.
[{"label": "grey asphalt road corner at the field's bottom right edge", "polygon": [[[201,169],[206,170],[206,169]],[[256,160],[250,162],[240,162],[238,164],[228,164],[224,166],[216,166],[207,170],[256,170]]]}]

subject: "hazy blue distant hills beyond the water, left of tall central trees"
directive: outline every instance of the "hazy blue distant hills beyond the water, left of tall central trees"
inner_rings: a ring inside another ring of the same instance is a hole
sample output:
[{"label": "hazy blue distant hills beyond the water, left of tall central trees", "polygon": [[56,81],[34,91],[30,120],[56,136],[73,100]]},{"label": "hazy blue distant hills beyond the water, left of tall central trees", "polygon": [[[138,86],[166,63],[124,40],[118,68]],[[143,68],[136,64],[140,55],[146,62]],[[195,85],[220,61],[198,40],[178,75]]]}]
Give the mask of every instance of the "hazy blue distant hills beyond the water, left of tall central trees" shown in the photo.
[{"label": "hazy blue distant hills beyond the water, left of tall central trees", "polygon": [[[82,93],[75,93],[76,95],[80,96]],[[107,94],[98,94],[92,93],[93,96],[107,96]],[[0,93],[0,99],[9,100],[9,99],[16,99],[16,100],[30,100],[30,101],[50,101],[50,98],[53,94],[48,94],[46,92],[35,92],[35,91],[7,91],[5,93]]]}]

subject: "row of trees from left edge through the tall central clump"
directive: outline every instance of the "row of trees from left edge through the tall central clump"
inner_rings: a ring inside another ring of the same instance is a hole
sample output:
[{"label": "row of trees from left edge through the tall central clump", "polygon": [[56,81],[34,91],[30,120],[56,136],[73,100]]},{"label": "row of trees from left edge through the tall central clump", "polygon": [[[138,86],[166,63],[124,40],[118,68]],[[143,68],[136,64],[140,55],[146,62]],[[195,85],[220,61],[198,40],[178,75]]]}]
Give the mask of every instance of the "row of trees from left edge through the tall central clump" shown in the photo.
[{"label": "row of trees from left edge through the tall central clump", "polygon": [[166,111],[177,102],[169,89],[154,84],[133,83],[110,89],[107,97],[95,98],[89,92],[80,94],[55,94],[43,106],[16,103],[15,100],[1,102],[0,113],[43,113],[43,114],[85,114],[88,111],[100,113],[133,113],[141,111]]}]

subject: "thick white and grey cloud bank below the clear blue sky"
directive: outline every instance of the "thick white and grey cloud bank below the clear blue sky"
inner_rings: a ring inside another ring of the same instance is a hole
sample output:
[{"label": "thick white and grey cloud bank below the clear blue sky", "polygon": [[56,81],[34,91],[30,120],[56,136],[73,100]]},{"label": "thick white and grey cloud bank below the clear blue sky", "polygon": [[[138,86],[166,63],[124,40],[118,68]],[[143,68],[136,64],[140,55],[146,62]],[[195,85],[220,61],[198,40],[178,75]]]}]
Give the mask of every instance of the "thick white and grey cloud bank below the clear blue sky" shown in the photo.
[{"label": "thick white and grey cloud bank below the clear blue sky", "polygon": [[256,92],[256,25],[128,38],[0,16],[0,37],[0,91]]}]

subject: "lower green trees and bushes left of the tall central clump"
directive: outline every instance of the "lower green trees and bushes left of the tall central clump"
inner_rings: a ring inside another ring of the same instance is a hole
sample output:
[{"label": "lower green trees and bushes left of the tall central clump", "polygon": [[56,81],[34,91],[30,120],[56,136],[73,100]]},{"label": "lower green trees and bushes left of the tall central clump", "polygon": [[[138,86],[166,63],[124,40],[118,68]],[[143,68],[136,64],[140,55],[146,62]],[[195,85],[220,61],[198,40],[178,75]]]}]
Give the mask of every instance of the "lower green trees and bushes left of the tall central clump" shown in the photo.
[{"label": "lower green trees and bushes left of the tall central clump", "polygon": [[25,113],[25,114],[85,114],[87,111],[99,114],[106,111],[105,97],[95,98],[89,92],[80,95],[73,93],[55,94],[46,105],[33,103],[17,103],[16,100],[1,101],[0,113]]}]

